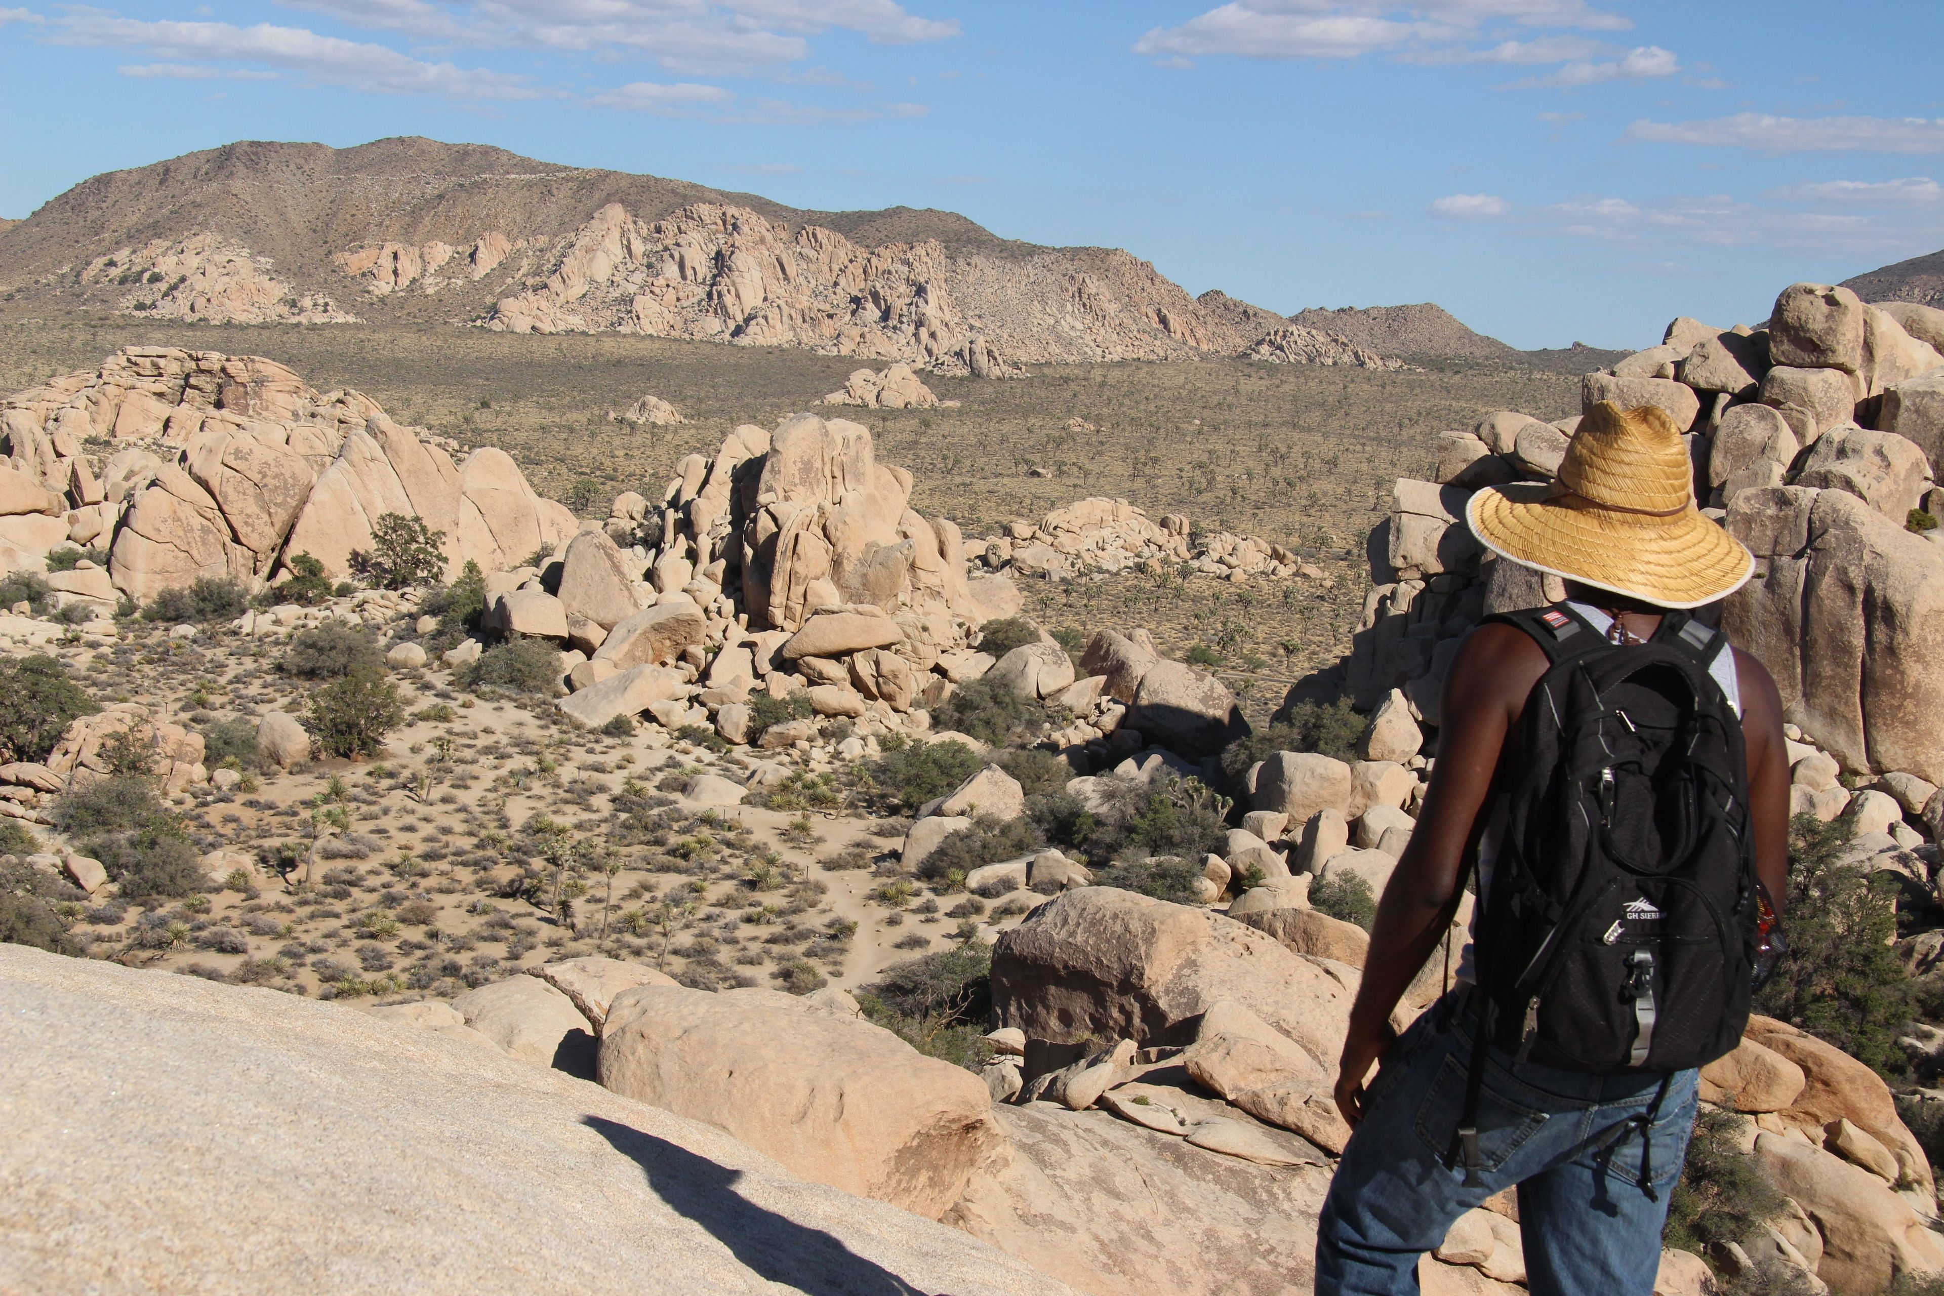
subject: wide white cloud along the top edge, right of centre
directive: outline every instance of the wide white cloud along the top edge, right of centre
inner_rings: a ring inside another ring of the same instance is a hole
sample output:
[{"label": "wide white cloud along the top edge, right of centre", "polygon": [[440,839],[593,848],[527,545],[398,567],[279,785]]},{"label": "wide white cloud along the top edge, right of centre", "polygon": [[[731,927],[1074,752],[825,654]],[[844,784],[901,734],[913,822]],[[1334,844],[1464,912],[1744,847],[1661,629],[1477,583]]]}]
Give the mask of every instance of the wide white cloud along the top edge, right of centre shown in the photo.
[{"label": "wide white cloud along the top edge, right of centre", "polygon": [[1621,31],[1619,14],[1582,0],[1231,0],[1178,27],[1155,27],[1133,45],[1149,56],[1355,58],[1396,52],[1415,62],[1563,62],[1602,52],[1588,41],[1540,37],[1466,43],[1483,23]]}]

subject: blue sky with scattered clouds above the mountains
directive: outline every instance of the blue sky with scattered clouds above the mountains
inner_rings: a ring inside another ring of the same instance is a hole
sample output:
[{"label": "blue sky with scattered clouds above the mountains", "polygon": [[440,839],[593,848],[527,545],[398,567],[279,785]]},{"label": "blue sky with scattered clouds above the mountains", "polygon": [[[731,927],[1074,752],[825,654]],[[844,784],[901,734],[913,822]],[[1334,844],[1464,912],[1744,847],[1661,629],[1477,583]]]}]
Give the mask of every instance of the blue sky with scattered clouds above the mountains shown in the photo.
[{"label": "blue sky with scattered clouds above the mountains", "polygon": [[426,134],[1645,346],[1944,247],[1940,49],[1936,0],[0,0],[0,216]]}]

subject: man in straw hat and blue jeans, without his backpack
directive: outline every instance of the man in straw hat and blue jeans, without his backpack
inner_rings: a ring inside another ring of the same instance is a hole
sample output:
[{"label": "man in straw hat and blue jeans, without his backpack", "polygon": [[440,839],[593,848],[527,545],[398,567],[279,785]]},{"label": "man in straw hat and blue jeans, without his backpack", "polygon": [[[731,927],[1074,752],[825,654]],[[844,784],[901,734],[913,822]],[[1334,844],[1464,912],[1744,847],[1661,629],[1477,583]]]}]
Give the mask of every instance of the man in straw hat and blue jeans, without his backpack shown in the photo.
[{"label": "man in straw hat and blue jeans, without his backpack", "polygon": [[[1608,661],[1627,653],[1645,661],[1649,649],[1635,645],[1654,639],[1670,612],[1713,604],[1753,571],[1750,552],[1695,507],[1687,449],[1658,408],[1594,406],[1555,482],[1481,490],[1468,521],[1501,560],[1561,577],[1567,602],[1528,616],[1584,631],[1580,645]],[[1676,612],[1668,626],[1687,620]],[[1693,635],[1711,637],[1695,626]],[[1318,1220],[1320,1296],[1415,1292],[1421,1253],[1462,1212],[1514,1185],[1532,1296],[1652,1292],[1668,1195],[1693,1129],[1695,1069],[1555,1069],[1503,1051],[1497,1030],[1489,1047],[1477,1038],[1477,923],[1493,904],[1493,859],[1510,859],[1518,845],[1505,837],[1507,789],[1534,777],[1520,766],[1520,717],[1551,659],[1528,630],[1487,622],[1452,661],[1435,773],[1378,904],[1343,1045],[1336,1094],[1355,1135]],[[1775,682],[1740,651],[1717,651],[1691,678],[1695,698],[1720,690],[1707,701],[1726,727],[1740,717],[1742,742],[1730,750],[1746,744],[1753,872],[1779,900],[1788,870],[1788,760]],[[1400,1038],[1392,1008],[1450,929],[1474,863],[1479,900],[1456,985]],[[1608,944],[1617,931],[1619,923]],[[1491,946],[1479,954],[1487,966],[1497,958]],[[1748,972],[1738,968],[1746,1010]],[[1738,1018],[1722,1028],[1730,1045],[1738,1030]],[[1468,1164],[1458,1164],[1456,1127],[1474,1067],[1475,1129]]]}]

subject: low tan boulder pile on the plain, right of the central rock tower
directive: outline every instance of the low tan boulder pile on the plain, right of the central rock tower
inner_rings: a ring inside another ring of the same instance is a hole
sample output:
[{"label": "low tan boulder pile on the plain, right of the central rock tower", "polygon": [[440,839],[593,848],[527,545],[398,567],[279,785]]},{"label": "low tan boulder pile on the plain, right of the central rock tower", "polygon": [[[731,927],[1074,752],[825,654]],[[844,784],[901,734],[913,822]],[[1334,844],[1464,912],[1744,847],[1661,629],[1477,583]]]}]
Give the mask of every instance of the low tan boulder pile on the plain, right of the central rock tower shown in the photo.
[{"label": "low tan boulder pile on the plain, right of the central rock tower", "polygon": [[1155,523],[1126,499],[1100,495],[1061,505],[1038,523],[1007,523],[986,542],[982,560],[999,573],[1071,579],[1087,573],[1164,571],[1182,563],[1201,575],[1242,583],[1250,577],[1322,577],[1281,544],[1227,530],[1198,532],[1180,513]]}]

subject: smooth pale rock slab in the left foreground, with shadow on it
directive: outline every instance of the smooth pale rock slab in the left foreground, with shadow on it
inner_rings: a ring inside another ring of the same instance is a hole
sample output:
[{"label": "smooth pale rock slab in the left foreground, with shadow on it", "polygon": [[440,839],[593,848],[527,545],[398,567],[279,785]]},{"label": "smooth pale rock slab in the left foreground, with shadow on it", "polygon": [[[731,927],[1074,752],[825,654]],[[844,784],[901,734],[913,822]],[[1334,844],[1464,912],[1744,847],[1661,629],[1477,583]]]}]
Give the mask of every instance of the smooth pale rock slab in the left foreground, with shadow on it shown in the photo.
[{"label": "smooth pale rock slab in the left foreground, with shadow on it", "polygon": [[0,999],[19,1290],[1071,1290],[451,1030],[17,944]]}]

